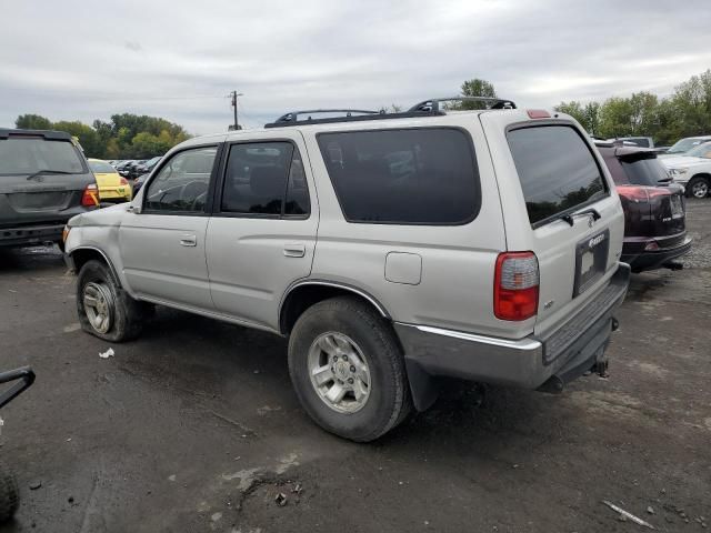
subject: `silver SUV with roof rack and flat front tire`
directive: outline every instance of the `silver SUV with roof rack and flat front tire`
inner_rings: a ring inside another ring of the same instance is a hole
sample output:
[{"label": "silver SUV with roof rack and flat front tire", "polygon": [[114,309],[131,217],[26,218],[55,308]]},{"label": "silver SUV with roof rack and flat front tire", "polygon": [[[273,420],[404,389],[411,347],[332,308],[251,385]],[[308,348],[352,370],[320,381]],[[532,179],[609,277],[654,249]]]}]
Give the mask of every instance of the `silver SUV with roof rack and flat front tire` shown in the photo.
[{"label": "silver SUV with roof rack and flat front tire", "polygon": [[570,117],[484,101],[176,147],[130,204],[70,221],[82,328],[133,339],[161,304],[289,336],[301,404],[354,441],[431,405],[439,376],[603,373],[629,280],[605,164]]}]

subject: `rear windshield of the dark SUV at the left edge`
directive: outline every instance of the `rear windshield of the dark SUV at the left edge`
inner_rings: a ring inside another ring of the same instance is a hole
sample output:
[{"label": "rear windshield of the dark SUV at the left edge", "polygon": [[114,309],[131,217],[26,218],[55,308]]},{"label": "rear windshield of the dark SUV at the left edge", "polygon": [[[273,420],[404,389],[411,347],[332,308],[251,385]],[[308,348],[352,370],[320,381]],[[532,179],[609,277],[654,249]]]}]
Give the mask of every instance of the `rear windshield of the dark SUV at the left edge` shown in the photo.
[{"label": "rear windshield of the dark SUV at the left edge", "polygon": [[69,141],[21,137],[0,140],[0,174],[31,174],[40,170],[81,174],[86,167]]}]

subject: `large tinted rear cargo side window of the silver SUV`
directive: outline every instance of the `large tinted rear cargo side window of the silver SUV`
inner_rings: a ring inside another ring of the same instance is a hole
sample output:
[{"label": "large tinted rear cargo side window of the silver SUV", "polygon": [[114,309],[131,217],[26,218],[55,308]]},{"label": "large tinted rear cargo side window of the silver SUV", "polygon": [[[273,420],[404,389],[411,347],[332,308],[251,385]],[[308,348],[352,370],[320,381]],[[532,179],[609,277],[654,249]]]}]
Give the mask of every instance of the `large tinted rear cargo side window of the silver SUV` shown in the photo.
[{"label": "large tinted rear cargo side window of the silver SUV", "polygon": [[462,131],[350,131],[318,141],[351,222],[460,224],[477,214],[479,174]]}]

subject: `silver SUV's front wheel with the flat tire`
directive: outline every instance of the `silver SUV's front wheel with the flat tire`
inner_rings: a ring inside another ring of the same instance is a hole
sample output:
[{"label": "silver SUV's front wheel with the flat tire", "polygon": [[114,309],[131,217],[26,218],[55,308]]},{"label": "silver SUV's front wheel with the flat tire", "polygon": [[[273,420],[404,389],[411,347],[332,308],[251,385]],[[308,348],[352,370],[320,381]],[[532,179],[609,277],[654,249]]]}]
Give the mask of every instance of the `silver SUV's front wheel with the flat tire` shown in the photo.
[{"label": "silver SUV's front wheel with the flat tire", "polygon": [[88,261],[77,279],[77,311],[81,328],[110,342],[136,339],[148,306],[121,289],[106,263]]}]

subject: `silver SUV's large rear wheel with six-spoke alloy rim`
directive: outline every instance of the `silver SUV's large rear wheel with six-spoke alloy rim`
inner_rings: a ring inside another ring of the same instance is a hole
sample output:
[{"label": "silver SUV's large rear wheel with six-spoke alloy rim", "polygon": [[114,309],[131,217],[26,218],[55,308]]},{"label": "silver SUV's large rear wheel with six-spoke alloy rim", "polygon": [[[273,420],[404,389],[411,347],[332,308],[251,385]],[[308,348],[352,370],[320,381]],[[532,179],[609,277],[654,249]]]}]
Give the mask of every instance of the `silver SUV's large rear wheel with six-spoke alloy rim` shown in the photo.
[{"label": "silver SUV's large rear wheel with six-spoke alloy rim", "polygon": [[324,300],[299,318],[289,340],[289,373],[307,413],[344,439],[375,440],[411,410],[392,329],[353,298]]}]

